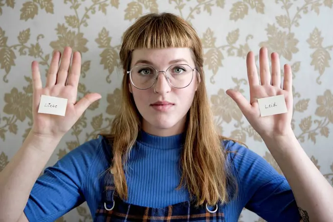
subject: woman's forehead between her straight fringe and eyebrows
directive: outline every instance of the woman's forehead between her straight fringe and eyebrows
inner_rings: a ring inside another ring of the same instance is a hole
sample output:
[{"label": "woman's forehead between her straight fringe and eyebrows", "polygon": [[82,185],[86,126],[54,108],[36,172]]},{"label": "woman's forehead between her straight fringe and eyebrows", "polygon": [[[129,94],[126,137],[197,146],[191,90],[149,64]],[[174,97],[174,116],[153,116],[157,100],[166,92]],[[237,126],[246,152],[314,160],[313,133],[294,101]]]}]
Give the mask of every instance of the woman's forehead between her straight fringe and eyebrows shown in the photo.
[{"label": "woman's forehead between her straight fringe and eyebrows", "polygon": [[131,65],[136,64],[139,60],[149,61],[155,66],[170,65],[173,60],[186,60],[193,65],[192,53],[189,48],[165,48],[165,49],[135,49],[132,52]]}]

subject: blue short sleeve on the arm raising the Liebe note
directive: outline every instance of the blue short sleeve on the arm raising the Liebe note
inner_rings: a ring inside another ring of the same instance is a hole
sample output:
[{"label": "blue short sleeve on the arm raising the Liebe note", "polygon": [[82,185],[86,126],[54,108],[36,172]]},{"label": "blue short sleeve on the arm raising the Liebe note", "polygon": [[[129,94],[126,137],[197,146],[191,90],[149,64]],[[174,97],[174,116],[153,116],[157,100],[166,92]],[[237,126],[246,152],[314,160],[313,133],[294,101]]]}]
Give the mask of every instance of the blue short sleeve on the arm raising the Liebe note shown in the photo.
[{"label": "blue short sleeve on the arm raising the Liebe note", "polygon": [[29,222],[54,222],[85,201],[82,186],[101,138],[72,149],[35,182],[24,214]]}]

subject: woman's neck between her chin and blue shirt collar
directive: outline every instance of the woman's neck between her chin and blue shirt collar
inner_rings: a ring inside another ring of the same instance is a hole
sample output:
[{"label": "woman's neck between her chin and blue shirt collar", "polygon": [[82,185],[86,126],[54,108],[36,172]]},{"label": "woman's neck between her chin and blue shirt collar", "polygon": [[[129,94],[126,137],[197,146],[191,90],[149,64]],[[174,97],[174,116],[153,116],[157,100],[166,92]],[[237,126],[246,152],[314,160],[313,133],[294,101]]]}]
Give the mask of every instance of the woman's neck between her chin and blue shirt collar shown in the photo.
[{"label": "woman's neck between her chin and blue shirt collar", "polygon": [[143,131],[154,135],[154,136],[173,136],[173,135],[178,135],[184,132],[185,130],[185,122],[186,118],[180,120],[178,123],[175,125],[168,127],[168,128],[163,128],[159,126],[152,125],[148,123],[147,121],[143,120],[142,124],[142,129]]}]

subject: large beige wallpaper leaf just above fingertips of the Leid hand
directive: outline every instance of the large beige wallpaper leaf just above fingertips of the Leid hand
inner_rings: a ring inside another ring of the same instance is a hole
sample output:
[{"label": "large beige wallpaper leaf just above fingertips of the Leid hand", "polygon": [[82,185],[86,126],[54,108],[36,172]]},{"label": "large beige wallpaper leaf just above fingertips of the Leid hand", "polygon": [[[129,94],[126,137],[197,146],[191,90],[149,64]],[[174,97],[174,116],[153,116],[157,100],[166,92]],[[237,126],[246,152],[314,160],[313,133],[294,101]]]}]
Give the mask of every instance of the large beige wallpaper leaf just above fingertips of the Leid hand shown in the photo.
[{"label": "large beige wallpaper leaf just above fingertips of the Leid hand", "polygon": [[275,51],[286,60],[291,61],[292,54],[299,51],[296,47],[299,41],[295,39],[295,34],[292,32],[287,33],[281,31],[275,26],[275,24],[267,24],[265,30],[267,32],[268,40],[261,42],[259,46],[266,47],[268,49],[268,54]]}]

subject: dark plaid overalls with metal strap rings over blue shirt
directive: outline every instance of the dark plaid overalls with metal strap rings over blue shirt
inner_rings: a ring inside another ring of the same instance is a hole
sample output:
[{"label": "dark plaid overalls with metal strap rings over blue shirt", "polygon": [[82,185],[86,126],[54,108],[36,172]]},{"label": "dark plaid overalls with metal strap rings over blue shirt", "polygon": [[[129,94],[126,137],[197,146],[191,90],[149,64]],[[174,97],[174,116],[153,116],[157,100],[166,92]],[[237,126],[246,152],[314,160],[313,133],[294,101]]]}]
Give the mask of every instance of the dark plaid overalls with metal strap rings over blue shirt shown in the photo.
[{"label": "dark plaid overalls with metal strap rings over blue shirt", "polygon": [[195,208],[188,202],[165,208],[151,208],[122,201],[114,190],[112,179],[104,180],[104,192],[94,222],[224,222],[223,205],[212,209],[203,205]]}]

